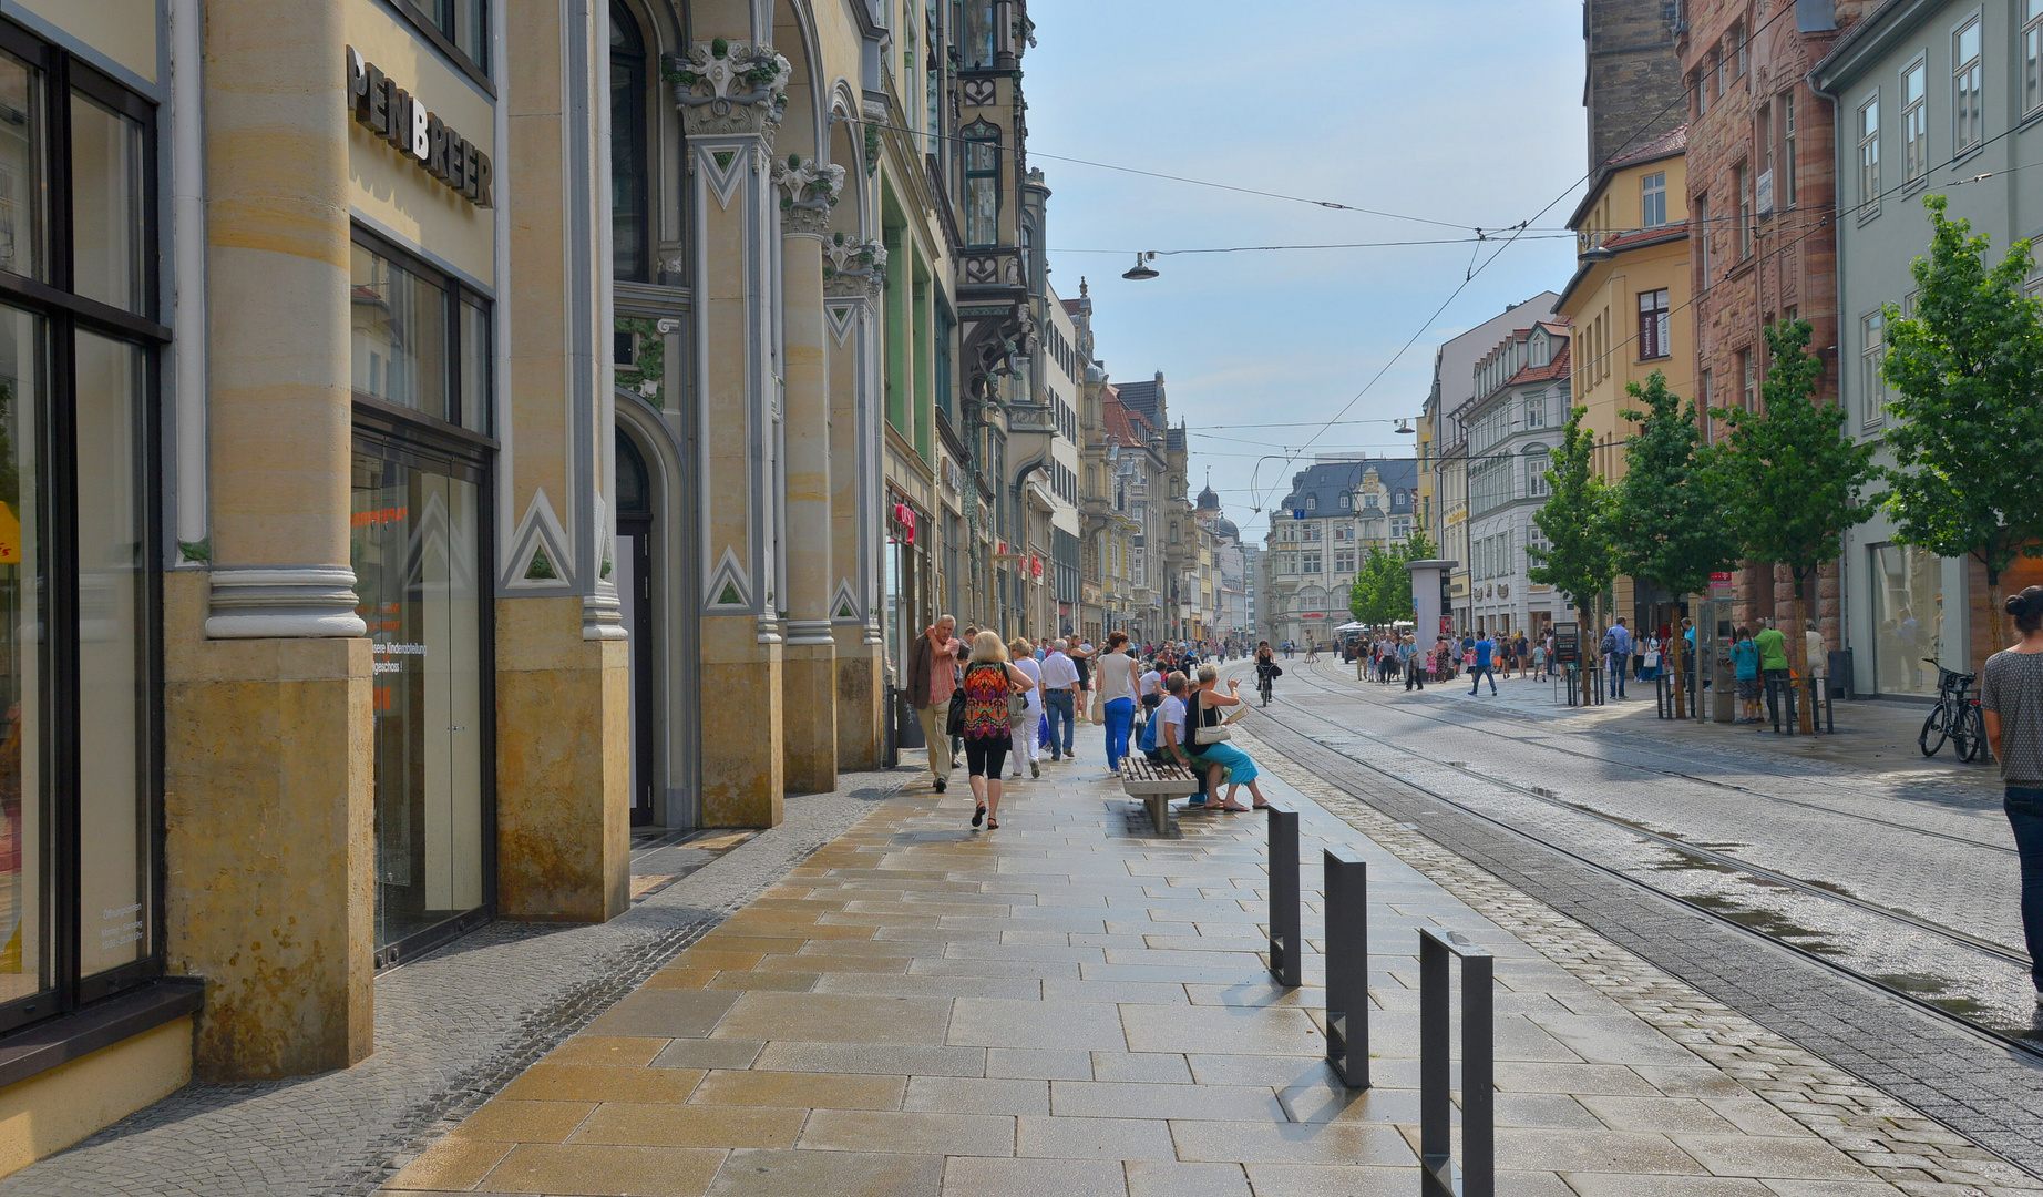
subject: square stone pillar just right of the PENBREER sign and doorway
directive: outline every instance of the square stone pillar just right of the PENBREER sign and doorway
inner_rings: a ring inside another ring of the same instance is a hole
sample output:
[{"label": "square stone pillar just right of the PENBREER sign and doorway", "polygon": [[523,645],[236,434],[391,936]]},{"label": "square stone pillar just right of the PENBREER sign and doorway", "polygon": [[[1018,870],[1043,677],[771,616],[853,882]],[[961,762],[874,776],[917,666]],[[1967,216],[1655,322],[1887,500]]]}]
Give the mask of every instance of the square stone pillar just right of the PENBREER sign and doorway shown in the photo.
[{"label": "square stone pillar just right of the PENBREER sign and doorway", "polygon": [[511,0],[498,317],[496,907],[603,921],[631,901],[631,676],[613,576],[609,10]]}]

